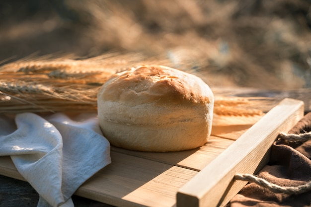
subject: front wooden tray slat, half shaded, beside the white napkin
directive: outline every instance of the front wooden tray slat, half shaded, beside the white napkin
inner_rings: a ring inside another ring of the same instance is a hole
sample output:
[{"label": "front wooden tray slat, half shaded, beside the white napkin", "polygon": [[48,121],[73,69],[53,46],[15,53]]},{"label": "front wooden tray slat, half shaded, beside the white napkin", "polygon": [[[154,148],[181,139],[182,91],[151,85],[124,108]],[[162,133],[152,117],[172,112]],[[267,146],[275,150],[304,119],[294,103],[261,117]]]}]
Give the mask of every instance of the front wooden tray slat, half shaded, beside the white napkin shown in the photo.
[{"label": "front wooden tray slat, half shaded, beside the white napkin", "polygon": [[118,152],[111,157],[76,195],[117,207],[173,207],[177,190],[197,173]]}]

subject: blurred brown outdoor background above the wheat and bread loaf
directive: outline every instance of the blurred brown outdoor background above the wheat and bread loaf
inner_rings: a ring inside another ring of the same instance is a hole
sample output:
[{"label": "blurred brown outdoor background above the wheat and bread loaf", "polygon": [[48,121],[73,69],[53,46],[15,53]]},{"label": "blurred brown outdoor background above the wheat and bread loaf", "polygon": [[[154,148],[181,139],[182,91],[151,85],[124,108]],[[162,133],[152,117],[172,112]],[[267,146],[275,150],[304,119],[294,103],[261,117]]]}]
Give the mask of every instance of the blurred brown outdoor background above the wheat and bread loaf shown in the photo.
[{"label": "blurred brown outdoor background above the wheat and bread loaf", "polygon": [[311,0],[1,0],[0,64],[165,57],[211,86],[311,88]]}]

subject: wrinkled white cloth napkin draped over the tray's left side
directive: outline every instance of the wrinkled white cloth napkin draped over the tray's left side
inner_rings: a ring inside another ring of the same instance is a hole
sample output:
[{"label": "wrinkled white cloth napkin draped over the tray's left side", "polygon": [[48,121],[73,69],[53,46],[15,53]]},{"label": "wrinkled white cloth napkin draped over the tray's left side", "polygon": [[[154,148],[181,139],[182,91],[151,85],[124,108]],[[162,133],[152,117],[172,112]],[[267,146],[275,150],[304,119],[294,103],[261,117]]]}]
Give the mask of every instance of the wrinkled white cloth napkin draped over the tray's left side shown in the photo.
[{"label": "wrinkled white cloth napkin draped over the tray's left side", "polygon": [[38,192],[38,207],[74,207],[71,196],[78,187],[111,163],[96,114],[0,116],[4,155]]}]

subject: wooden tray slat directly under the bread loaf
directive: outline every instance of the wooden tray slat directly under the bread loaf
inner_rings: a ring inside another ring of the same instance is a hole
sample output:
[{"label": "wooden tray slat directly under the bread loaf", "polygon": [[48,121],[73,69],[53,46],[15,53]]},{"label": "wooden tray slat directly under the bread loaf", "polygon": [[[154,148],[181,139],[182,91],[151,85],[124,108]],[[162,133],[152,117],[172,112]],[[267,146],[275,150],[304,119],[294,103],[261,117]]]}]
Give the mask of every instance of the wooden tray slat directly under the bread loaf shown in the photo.
[{"label": "wooden tray slat directly under the bread loaf", "polygon": [[234,141],[231,139],[211,136],[208,142],[202,147],[179,152],[140,152],[113,146],[111,147],[111,150],[165,164],[200,171],[233,142]]}]

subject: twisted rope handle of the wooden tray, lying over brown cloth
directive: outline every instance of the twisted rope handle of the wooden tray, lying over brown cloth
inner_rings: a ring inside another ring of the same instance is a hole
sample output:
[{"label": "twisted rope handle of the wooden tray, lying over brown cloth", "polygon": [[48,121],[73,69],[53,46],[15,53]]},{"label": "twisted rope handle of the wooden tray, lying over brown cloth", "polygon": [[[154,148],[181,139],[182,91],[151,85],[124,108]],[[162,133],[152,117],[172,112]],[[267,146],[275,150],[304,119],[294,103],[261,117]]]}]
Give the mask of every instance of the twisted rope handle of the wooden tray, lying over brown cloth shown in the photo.
[{"label": "twisted rope handle of the wooden tray, lying over brown cloth", "polygon": [[[299,135],[288,134],[288,133],[282,132],[279,134],[278,138],[284,139],[289,142],[304,142],[304,141],[311,139],[311,132],[303,133]],[[247,174],[247,173],[236,174],[234,176],[234,179],[247,181],[249,183],[256,183],[257,185],[264,187],[272,191],[273,193],[285,193],[288,195],[299,195],[299,194],[303,194],[311,190],[311,181],[306,182],[305,184],[300,185],[300,186],[284,187],[284,186],[279,186],[271,182],[268,182],[267,180],[262,179],[258,177],[257,175],[252,175],[252,174]]]}]

